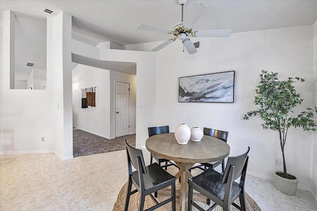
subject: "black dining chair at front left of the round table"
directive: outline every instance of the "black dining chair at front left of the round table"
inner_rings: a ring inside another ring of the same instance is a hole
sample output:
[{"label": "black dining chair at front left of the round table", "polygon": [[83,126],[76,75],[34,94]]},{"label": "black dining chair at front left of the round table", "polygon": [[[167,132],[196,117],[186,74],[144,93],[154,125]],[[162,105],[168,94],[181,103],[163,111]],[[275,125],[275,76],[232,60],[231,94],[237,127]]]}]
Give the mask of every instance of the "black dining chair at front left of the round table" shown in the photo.
[{"label": "black dining chair at front left of the round table", "polygon": [[[130,146],[127,140],[125,140],[125,142],[128,158],[129,182],[124,210],[128,210],[130,196],[139,192],[139,211],[143,211],[145,196],[147,195],[150,195],[156,203],[155,206],[149,208],[147,211],[155,210],[169,202],[172,203],[172,211],[175,211],[175,177],[162,169],[158,163],[152,163],[145,166],[142,151]],[[132,172],[132,166],[136,171]],[[134,191],[131,191],[132,184],[136,187]],[[152,193],[158,192],[168,186],[171,186],[171,198],[159,203]]]}]

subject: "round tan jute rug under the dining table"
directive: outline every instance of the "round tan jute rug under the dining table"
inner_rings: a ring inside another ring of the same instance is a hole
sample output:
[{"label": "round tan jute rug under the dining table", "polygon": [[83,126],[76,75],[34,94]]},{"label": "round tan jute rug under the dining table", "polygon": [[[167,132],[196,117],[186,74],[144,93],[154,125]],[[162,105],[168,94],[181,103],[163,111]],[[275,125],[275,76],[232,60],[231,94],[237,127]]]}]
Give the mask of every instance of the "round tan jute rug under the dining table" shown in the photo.
[{"label": "round tan jute rug under the dining table", "polygon": [[[177,170],[177,169],[176,169]],[[168,170],[169,171],[169,170]],[[174,170],[175,171],[175,170]],[[198,174],[199,172],[192,172],[194,175]],[[123,185],[123,187],[121,188],[119,194],[118,194],[118,198],[117,201],[115,202],[114,206],[113,206],[113,211],[124,211],[124,205],[125,205],[125,197],[126,197],[126,192],[127,192],[127,185],[128,183],[125,183]],[[176,189],[179,187],[179,183],[178,180],[176,180]],[[132,190],[134,190],[135,187],[132,185]],[[170,197],[168,196],[158,196],[157,200],[159,202],[162,202],[166,199],[168,199]],[[140,194],[139,192],[133,194],[132,196],[130,196],[130,202],[129,202],[129,208],[128,211],[137,211],[139,208],[139,199],[140,199]],[[211,202],[211,205],[207,205],[203,202],[198,202],[196,201],[196,203],[201,206],[203,209],[207,210],[213,203]],[[235,201],[236,204],[240,205],[239,202],[239,198]],[[261,209],[259,208],[259,206],[257,205],[257,203],[246,193],[246,203],[247,203],[247,210],[248,211],[261,211]],[[145,203],[144,203],[144,210],[149,209],[153,206],[155,206],[155,202],[149,197],[146,196],[145,198]],[[179,199],[176,198],[176,210],[178,211],[179,205]],[[156,211],[171,211],[171,203],[168,203],[162,207],[160,207],[159,209],[157,209]],[[195,207],[193,207],[193,211],[197,211],[197,209]],[[222,211],[222,208],[220,206],[217,206],[214,211]],[[238,209],[236,209],[235,207],[233,207],[232,205],[230,206],[230,211],[238,211]]]}]

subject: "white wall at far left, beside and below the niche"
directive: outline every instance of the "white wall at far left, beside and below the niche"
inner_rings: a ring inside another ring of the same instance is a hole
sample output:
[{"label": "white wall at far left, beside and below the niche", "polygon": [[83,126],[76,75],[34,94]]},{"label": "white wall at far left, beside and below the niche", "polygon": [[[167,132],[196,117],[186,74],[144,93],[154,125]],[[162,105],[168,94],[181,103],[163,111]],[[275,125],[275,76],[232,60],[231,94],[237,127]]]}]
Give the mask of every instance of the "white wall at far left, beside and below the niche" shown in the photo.
[{"label": "white wall at far left, beside and below the niche", "polygon": [[[11,12],[4,13],[10,16]],[[53,130],[48,92],[10,89],[10,84],[14,85],[14,80],[12,83],[9,80],[10,67],[14,67],[14,53],[10,55],[11,49],[8,45],[14,41],[14,33],[10,34],[8,30],[10,21],[13,19],[3,18],[3,28],[6,30],[0,36],[0,153],[51,150]],[[42,142],[42,137],[45,137],[45,142]]]}]

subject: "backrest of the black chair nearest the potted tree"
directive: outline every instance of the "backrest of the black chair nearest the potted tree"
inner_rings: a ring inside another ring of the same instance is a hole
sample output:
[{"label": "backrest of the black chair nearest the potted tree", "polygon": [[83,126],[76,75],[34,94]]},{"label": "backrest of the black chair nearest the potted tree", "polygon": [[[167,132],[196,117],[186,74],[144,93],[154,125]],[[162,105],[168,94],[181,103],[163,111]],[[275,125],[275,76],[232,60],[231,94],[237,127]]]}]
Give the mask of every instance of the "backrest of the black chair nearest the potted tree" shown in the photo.
[{"label": "backrest of the black chair nearest the potted tree", "polygon": [[246,164],[249,151],[250,151],[250,147],[248,147],[247,152],[241,156],[228,157],[227,165],[223,174],[222,183],[227,183],[231,166],[234,166],[233,180],[236,180],[240,177],[242,170],[244,169],[244,166]]}]

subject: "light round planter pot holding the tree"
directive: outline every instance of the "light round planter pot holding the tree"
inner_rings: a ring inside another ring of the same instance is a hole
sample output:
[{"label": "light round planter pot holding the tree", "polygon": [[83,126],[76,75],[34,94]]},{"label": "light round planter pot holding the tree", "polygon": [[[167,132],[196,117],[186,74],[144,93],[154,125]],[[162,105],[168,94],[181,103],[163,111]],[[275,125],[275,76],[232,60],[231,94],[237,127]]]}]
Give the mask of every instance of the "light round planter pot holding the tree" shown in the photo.
[{"label": "light round planter pot holding the tree", "polygon": [[280,192],[294,196],[297,190],[298,179],[286,179],[284,177],[278,176],[275,171],[275,185],[277,190]]}]

